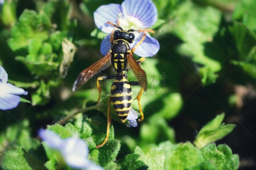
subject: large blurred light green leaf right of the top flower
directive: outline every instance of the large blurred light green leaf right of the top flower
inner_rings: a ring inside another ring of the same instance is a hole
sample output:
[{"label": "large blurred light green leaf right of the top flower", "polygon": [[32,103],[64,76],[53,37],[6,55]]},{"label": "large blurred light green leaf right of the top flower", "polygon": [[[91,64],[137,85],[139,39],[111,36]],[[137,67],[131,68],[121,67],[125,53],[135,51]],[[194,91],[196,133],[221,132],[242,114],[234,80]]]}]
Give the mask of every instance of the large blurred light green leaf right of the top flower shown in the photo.
[{"label": "large blurred light green leaf right of the top flower", "polygon": [[204,43],[212,42],[214,35],[219,31],[221,12],[211,6],[200,7],[191,1],[185,1],[172,11],[171,20],[172,22],[164,24],[159,32],[178,36],[184,42],[178,52],[203,65],[199,68],[203,85],[214,83],[221,65],[205,54]]}]

